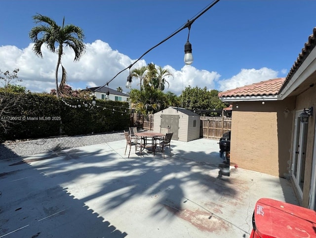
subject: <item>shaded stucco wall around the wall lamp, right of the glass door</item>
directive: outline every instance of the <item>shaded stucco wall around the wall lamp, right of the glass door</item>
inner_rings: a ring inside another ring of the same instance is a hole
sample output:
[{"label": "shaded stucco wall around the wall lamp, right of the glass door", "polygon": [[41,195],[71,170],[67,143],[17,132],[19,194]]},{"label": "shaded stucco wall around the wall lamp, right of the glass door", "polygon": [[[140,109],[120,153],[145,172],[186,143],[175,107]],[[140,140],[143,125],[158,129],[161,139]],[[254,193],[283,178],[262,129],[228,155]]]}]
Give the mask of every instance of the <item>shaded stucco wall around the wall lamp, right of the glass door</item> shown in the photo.
[{"label": "shaded stucco wall around the wall lamp, right of the glass door", "polygon": [[315,117],[316,117],[316,86],[308,89],[296,98],[296,109],[302,110],[313,106],[314,115],[309,118],[308,136],[306,146],[306,160],[304,173],[304,188],[303,188],[303,206],[309,205],[309,192],[311,186],[312,164],[313,164],[313,149],[315,140]]}]

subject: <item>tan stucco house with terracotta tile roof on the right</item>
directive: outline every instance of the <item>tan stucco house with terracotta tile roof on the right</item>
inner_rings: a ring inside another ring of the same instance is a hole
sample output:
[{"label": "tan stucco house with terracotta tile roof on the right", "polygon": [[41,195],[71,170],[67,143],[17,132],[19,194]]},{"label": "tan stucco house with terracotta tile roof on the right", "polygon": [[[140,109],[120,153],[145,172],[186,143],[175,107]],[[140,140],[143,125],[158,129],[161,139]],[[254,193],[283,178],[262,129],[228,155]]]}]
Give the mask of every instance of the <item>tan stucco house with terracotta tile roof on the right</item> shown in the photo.
[{"label": "tan stucco house with terracotta tile roof on the right", "polygon": [[316,28],[286,78],[218,94],[233,104],[231,161],[290,179],[301,205],[314,210],[316,115],[309,116],[307,124],[300,120],[304,108],[316,108],[315,38]]}]

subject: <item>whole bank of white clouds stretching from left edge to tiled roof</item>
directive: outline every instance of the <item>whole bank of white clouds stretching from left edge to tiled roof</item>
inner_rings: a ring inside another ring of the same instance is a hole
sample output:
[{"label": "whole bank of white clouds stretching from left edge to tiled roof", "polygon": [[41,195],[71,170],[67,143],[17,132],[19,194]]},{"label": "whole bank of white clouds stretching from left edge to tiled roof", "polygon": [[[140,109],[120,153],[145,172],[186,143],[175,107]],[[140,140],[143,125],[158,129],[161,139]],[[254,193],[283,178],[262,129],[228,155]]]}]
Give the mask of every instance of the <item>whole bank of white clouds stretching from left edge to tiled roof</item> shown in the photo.
[{"label": "whole bank of white clouds stretching from left edge to tiled roof", "polygon": [[[19,49],[15,46],[0,47],[0,69],[2,71],[12,71],[19,68],[19,79],[22,86],[32,92],[50,92],[55,88],[55,68],[57,63],[57,54],[49,52],[47,48],[42,47],[43,58],[36,56],[32,50],[33,44],[27,48]],[[74,62],[74,52],[70,48],[64,49],[62,63],[68,75],[68,84],[73,89],[85,89],[86,87],[102,86],[109,82],[119,71],[128,67],[135,59],[119,53],[112,49],[109,44],[96,40],[91,44],[86,44],[86,53],[79,62]],[[133,67],[146,66],[145,60],[138,61]],[[199,70],[191,65],[184,66],[180,71],[175,70],[170,65],[164,66],[174,75],[173,79],[169,77],[169,88],[165,85],[164,92],[171,91],[180,95],[182,90],[189,85],[191,87],[206,87],[208,90],[219,89],[226,91],[241,87],[244,85],[260,82],[263,80],[277,77],[277,71],[261,69],[241,69],[241,71],[230,79],[220,80],[221,75],[218,72],[209,72]],[[61,78],[61,69],[59,70]],[[283,73],[284,70],[281,71]],[[119,74],[109,87],[117,89],[121,87],[124,93],[128,92],[125,83],[128,70]],[[133,79],[132,88],[139,88],[137,79]]]}]

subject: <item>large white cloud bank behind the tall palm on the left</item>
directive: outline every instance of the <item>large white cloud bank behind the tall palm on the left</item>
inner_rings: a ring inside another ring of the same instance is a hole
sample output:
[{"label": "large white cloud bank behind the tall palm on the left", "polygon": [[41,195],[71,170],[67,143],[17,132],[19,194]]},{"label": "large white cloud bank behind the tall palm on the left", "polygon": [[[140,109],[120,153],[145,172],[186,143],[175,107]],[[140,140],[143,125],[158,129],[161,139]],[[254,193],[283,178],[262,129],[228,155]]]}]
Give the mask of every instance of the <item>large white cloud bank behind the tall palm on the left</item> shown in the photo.
[{"label": "large white cloud bank behind the tall palm on the left", "polygon": [[[55,88],[55,68],[57,54],[49,52],[44,46],[41,48],[43,58],[36,56],[32,50],[33,44],[19,49],[15,46],[0,47],[0,69],[10,72],[19,68],[20,83],[32,92],[49,92]],[[109,44],[96,40],[86,44],[86,53],[79,62],[74,62],[75,54],[70,48],[64,49],[62,64],[67,71],[67,82],[74,89],[96,87],[106,84],[119,71],[128,67],[135,60],[113,50]],[[138,61],[134,67],[146,65],[144,60]],[[119,74],[109,87],[125,88],[128,70]],[[61,68],[58,79],[61,78]],[[59,81],[60,82],[60,81]],[[127,90],[126,90],[127,91]]]}]

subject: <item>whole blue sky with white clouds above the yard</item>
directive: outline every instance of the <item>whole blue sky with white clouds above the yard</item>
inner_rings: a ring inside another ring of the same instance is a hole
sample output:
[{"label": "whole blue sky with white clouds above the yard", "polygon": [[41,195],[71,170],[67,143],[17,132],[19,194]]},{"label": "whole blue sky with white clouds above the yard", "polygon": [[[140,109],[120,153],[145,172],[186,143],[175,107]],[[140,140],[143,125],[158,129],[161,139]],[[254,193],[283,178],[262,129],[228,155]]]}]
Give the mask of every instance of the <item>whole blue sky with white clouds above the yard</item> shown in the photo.
[{"label": "whole blue sky with white clouds above the yard", "polygon": [[[74,24],[86,36],[86,54],[73,62],[62,58],[73,88],[101,86],[145,51],[203,10],[211,0],[1,0],[0,69],[19,68],[22,85],[33,92],[54,88],[57,55],[32,52],[32,16],[46,15],[62,25]],[[316,26],[314,0],[220,0],[192,25],[194,62],[185,66],[185,29],[146,54],[135,67],[155,63],[168,68],[169,89],[187,86],[226,91],[285,77]],[[109,87],[124,87],[124,71]],[[133,81],[132,88],[139,88]]]}]

